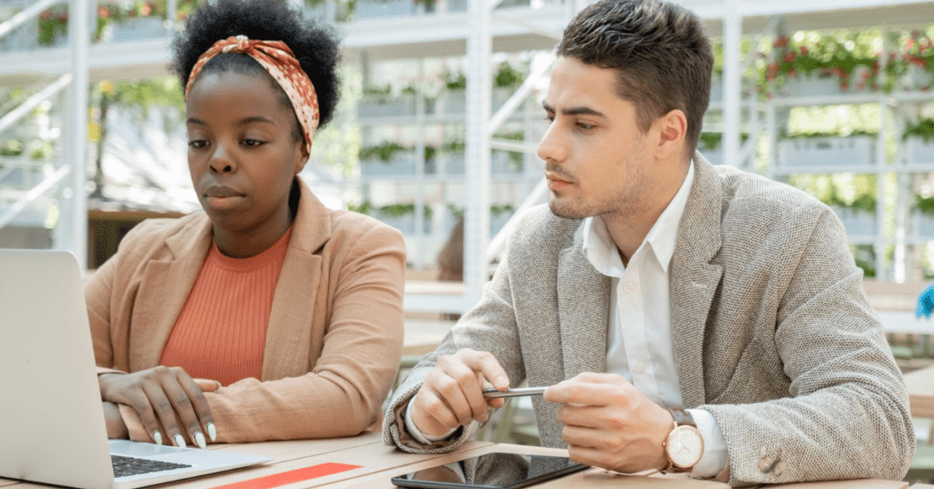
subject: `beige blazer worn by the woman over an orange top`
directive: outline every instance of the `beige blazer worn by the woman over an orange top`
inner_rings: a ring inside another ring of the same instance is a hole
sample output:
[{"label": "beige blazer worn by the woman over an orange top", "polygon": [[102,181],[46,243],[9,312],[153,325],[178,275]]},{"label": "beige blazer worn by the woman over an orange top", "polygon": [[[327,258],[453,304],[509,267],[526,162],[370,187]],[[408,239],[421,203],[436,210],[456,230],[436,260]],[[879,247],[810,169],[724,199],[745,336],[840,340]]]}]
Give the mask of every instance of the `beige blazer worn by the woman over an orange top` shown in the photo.
[{"label": "beige blazer worn by the woman over an orange top", "polygon": [[[399,367],[402,236],[361,214],[326,209],[301,180],[300,188],[262,378],[205,394],[219,441],[361,433],[378,418]],[[98,367],[159,365],[211,242],[204,212],[149,220],[123,238],[85,286]],[[133,439],[150,439],[133,410],[120,412]]]}]

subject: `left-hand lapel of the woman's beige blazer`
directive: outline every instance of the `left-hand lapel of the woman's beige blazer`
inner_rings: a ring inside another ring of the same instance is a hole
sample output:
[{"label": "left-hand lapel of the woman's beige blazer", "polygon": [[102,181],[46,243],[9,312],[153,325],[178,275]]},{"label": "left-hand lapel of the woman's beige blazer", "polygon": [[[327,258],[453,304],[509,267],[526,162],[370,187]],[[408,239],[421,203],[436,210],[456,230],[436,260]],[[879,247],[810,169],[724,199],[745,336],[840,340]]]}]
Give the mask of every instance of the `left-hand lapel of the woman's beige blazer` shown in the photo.
[{"label": "left-hand lapel of the woman's beige blazer", "polygon": [[130,336],[131,371],[160,365],[165,343],[211,248],[210,220],[202,213],[165,239],[165,246],[168,256],[147,264],[136,294],[133,322],[146,327],[134,328]]}]

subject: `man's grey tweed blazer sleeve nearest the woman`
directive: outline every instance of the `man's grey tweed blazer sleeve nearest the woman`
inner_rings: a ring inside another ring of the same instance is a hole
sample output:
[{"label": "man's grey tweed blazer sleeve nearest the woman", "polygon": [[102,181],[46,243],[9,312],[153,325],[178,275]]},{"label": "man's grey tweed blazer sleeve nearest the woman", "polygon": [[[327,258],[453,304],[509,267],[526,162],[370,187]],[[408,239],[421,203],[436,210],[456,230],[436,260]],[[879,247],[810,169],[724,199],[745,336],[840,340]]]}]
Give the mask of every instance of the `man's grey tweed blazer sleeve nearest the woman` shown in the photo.
[{"label": "man's grey tweed blazer sleeve nearest the woman", "polygon": [[493,280],[484,286],[479,304],[460,319],[434,352],[418,362],[392,396],[383,415],[385,444],[395,445],[409,453],[446,453],[467,441],[480,427],[476,423],[470,426],[472,429],[461,426],[449,439],[428,445],[419,444],[405,431],[405,408],[442,355],[464,348],[491,352],[505,370],[510,385],[518,385],[525,380],[511,290],[507,256],[497,267]]}]

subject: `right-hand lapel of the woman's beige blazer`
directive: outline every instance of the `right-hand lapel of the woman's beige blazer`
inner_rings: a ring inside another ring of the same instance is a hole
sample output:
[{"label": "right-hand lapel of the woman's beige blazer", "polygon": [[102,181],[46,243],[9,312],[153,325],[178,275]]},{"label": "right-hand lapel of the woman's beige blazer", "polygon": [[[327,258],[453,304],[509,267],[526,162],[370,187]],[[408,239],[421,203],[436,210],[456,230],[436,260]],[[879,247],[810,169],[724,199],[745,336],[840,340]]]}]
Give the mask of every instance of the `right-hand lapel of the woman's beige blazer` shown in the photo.
[{"label": "right-hand lapel of the woman's beige blazer", "polygon": [[[331,238],[330,211],[311,194],[304,181],[296,180],[301,197],[269,312],[262,355],[263,381],[297,377],[308,371],[311,324],[316,314],[326,313],[314,307],[322,273],[322,260],[316,252]],[[303,306],[296,307],[298,303]]]}]

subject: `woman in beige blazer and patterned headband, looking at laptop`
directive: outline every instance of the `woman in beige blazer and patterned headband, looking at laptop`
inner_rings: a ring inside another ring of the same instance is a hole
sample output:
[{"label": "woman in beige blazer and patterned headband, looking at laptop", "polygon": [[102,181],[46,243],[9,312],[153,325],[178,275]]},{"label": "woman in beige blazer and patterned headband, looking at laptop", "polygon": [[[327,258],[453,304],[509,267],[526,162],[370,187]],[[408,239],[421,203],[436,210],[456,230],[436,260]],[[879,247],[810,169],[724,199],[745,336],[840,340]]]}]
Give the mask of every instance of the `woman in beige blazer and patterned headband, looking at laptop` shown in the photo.
[{"label": "woman in beige blazer and patterned headband, looking at laptop", "polygon": [[219,0],[174,54],[205,212],[141,223],[86,285],[108,433],[356,435],[399,366],[405,256],[297,176],[337,102],[337,43],[282,2]]}]

